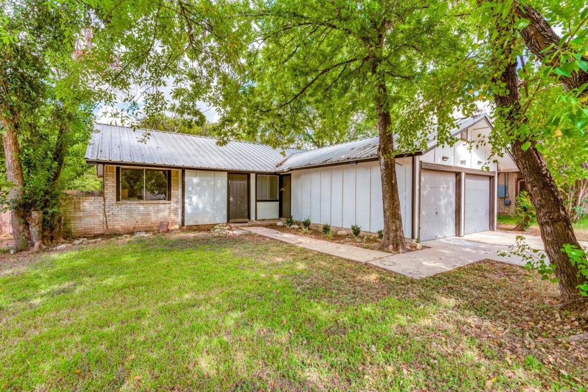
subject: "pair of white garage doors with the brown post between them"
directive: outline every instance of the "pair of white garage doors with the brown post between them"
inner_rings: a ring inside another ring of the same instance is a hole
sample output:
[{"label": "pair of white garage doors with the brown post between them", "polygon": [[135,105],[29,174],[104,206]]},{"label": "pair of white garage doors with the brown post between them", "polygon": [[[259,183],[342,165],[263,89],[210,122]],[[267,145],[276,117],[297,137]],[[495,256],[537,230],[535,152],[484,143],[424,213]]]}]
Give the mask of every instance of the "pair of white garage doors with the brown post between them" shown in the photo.
[{"label": "pair of white garage doors with the brown post between them", "polygon": [[490,172],[473,174],[423,169],[420,173],[420,240],[491,230],[493,179]]}]

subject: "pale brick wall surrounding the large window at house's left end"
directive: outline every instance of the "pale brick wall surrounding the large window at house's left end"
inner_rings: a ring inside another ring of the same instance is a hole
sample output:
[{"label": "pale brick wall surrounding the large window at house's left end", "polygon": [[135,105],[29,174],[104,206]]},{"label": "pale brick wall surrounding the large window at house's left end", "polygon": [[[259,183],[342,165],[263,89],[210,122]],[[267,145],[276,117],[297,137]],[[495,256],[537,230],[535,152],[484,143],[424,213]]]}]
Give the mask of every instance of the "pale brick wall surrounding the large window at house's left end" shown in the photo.
[{"label": "pale brick wall surrounding the large window at house's left end", "polygon": [[65,232],[72,236],[157,230],[159,222],[179,227],[179,170],[172,170],[171,200],[116,201],[116,167],[104,167],[104,192],[97,197],[68,197]]}]

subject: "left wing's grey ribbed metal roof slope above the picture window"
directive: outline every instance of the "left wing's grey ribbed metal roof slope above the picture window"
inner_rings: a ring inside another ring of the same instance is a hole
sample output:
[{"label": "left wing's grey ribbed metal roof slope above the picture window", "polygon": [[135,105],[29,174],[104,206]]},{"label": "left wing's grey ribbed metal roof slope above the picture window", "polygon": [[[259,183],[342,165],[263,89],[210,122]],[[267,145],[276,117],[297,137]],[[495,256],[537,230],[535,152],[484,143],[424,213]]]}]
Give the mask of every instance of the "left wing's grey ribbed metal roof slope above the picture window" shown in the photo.
[{"label": "left wing's grey ribbed metal roof slope above the picture window", "polygon": [[219,146],[215,138],[99,123],[94,129],[86,149],[89,162],[275,172],[287,156],[300,152],[288,149],[282,155],[268,145],[235,141]]}]

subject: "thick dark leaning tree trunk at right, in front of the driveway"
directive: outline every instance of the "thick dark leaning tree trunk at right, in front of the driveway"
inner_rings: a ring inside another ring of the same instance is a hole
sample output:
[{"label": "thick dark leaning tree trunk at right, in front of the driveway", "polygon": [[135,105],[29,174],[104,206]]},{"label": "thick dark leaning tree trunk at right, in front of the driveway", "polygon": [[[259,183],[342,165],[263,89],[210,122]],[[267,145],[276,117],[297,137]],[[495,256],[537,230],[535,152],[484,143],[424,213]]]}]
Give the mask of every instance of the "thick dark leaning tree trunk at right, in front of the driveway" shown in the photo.
[{"label": "thick dark leaning tree trunk at right, in front of the driveway", "polygon": [[525,121],[520,115],[522,109],[516,69],[516,62],[510,62],[500,75],[500,81],[506,83],[507,92],[506,95],[495,96],[496,106],[501,110],[500,113],[510,138],[515,140],[512,142],[513,158],[527,183],[529,196],[535,206],[537,222],[549,262],[556,267],[555,275],[559,280],[561,294],[560,304],[566,309],[584,313],[588,309],[588,298],[580,294],[578,286],[585,280],[579,277],[578,269],[570,262],[567,254],[560,250],[564,244],[581,249],[574,234],[572,222],[567,215],[563,198],[552,174],[547,169],[543,156],[535,148],[534,142],[531,142],[529,148],[523,150],[522,146],[527,140],[519,140],[514,133],[519,128],[520,122]]}]

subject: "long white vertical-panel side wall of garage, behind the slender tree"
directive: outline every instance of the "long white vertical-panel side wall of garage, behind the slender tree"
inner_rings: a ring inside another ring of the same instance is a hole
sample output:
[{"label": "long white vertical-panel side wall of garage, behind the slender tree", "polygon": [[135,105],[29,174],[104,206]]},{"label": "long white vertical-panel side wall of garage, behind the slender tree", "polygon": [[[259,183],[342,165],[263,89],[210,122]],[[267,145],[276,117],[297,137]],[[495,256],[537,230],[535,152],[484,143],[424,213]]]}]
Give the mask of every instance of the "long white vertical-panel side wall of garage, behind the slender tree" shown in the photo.
[{"label": "long white vertical-panel side wall of garage, behind the slender tree", "polygon": [[[400,208],[406,237],[412,227],[412,158],[396,159]],[[292,215],[295,220],[329,223],[365,232],[382,230],[382,183],[378,162],[292,171]]]}]

